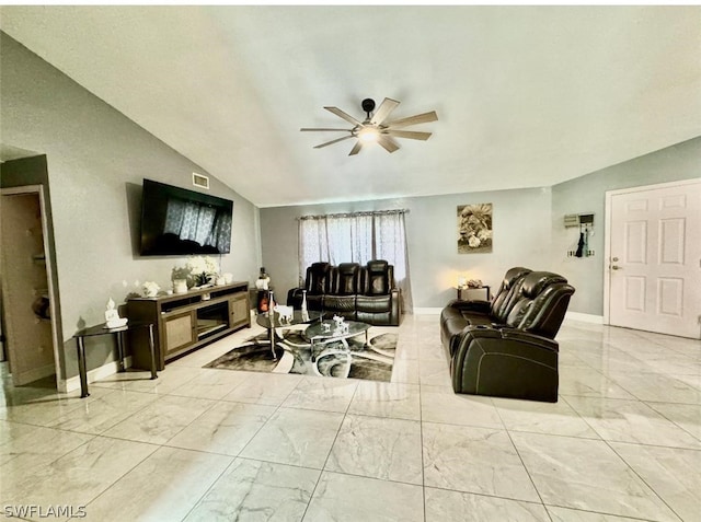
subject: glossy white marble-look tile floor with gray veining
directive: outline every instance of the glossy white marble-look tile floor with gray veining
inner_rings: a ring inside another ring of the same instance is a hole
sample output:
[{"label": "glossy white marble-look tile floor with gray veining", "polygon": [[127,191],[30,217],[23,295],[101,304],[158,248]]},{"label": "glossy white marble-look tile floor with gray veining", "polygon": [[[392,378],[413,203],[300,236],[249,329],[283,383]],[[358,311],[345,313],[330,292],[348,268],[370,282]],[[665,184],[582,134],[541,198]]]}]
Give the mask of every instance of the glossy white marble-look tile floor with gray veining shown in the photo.
[{"label": "glossy white marble-look tile floor with gray veining", "polygon": [[545,404],[453,394],[437,315],[390,383],[202,368],[256,328],[87,399],[0,363],[0,518],[701,521],[699,340],[565,322]]}]

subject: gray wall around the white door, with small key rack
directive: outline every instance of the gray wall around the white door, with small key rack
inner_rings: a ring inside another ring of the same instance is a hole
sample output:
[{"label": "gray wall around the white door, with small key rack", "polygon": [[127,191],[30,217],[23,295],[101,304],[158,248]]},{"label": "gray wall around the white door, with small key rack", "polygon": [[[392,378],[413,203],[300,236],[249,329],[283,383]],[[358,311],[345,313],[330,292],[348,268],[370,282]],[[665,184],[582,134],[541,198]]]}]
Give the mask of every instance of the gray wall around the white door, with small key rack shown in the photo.
[{"label": "gray wall around the white door, with small key rack", "polygon": [[[606,192],[700,176],[701,138],[694,138],[552,187],[551,268],[566,274],[577,289],[570,304],[572,312],[604,315]],[[588,211],[595,213],[589,240],[595,255],[567,257],[568,250],[576,250],[579,231],[565,229],[564,216]]]}]

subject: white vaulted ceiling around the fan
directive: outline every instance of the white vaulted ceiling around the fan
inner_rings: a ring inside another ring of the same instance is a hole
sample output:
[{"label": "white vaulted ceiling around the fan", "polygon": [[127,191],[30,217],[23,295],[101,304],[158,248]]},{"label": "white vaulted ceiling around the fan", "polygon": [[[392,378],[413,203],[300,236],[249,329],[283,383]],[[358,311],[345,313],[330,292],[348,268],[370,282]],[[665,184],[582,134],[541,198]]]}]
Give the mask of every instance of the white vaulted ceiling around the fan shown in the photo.
[{"label": "white vaulted ceiling around the fan", "polygon": [[[0,27],[260,207],[550,186],[701,135],[701,7],[21,7]],[[360,101],[436,111],[353,140]]]}]

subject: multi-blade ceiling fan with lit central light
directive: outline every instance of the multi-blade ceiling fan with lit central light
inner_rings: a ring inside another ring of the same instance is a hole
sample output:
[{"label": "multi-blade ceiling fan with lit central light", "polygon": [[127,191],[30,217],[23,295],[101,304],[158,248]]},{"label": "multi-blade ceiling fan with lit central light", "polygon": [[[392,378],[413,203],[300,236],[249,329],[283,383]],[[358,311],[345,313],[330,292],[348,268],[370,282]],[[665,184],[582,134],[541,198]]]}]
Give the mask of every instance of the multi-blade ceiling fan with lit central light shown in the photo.
[{"label": "multi-blade ceiling fan with lit central light", "polygon": [[[366,118],[360,121],[353,116],[344,113],[337,107],[324,107],[326,111],[335,114],[336,116],[353,124],[352,129],[299,129],[304,131],[322,131],[322,132],[348,132],[348,136],[337,138],[335,140],[326,141],[325,143],[318,144],[314,149],[321,149],[330,144],[337,143],[338,141],[347,140],[350,138],[357,138],[356,144],[350,149],[348,155],[355,155],[360,152],[365,143],[377,142],[388,152],[394,152],[399,149],[399,144],[394,141],[394,138],[409,138],[412,140],[427,140],[430,137],[430,132],[418,132],[415,130],[400,130],[403,127],[410,125],[425,124],[428,121],[436,121],[438,115],[435,111],[430,113],[417,114],[416,116],[409,116],[406,118],[395,119],[393,121],[387,121],[392,111],[397,108],[399,102],[386,97],[375,113],[375,100],[363,100],[361,107],[366,113]],[[387,121],[387,123],[386,123]]]}]

